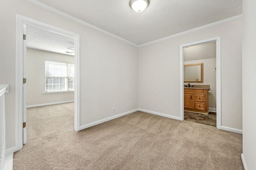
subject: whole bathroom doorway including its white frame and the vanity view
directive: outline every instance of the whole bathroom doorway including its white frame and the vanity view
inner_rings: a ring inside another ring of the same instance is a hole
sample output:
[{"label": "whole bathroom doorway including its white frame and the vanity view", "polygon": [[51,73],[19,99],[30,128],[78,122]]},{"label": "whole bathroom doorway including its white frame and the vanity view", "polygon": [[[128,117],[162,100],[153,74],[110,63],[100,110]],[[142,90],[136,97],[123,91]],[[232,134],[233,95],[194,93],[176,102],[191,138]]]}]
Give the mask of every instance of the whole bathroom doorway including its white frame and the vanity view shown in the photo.
[{"label": "whole bathroom doorway including its white frame and the vanity view", "polygon": [[180,45],[180,117],[220,129],[220,37]]}]

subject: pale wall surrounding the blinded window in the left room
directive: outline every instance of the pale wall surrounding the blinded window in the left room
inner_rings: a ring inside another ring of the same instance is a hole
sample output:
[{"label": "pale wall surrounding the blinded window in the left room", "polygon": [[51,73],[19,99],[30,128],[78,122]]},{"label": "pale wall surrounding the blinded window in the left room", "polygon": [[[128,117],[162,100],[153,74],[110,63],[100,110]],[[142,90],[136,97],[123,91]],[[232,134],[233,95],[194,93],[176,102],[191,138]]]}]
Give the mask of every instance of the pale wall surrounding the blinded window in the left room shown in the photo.
[{"label": "pale wall surrounding the blinded window in the left room", "polygon": [[74,100],[74,92],[44,93],[44,61],[74,63],[74,56],[27,48],[27,106]]}]

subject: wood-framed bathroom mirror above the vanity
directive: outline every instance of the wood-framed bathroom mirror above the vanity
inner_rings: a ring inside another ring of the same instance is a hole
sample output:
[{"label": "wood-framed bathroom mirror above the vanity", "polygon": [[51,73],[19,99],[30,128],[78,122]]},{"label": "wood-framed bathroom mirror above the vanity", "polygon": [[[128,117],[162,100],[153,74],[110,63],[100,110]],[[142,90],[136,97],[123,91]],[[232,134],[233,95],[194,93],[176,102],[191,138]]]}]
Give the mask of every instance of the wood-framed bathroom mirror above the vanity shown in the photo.
[{"label": "wood-framed bathroom mirror above the vanity", "polygon": [[203,63],[184,65],[184,83],[203,83],[204,71]]}]

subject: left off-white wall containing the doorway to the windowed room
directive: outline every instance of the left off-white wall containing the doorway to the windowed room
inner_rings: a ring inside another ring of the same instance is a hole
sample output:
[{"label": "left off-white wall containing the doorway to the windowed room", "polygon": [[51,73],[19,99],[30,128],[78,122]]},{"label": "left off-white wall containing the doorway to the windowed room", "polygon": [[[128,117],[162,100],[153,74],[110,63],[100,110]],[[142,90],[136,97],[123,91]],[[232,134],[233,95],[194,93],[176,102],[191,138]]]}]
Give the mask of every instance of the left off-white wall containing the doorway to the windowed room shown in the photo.
[{"label": "left off-white wall containing the doorway to the windowed room", "polygon": [[[138,48],[26,0],[1,1],[0,84],[6,94],[6,148],[15,147],[16,14],[80,35],[80,125],[138,108]],[[112,108],[116,112],[112,113]]]}]

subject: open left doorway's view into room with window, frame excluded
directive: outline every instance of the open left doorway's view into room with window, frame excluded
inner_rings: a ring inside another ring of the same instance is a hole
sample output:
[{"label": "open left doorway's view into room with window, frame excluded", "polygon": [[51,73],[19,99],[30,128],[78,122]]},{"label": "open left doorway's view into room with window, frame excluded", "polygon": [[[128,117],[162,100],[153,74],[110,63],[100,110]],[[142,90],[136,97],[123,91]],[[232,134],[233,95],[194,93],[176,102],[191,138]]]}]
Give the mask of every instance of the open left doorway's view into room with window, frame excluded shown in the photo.
[{"label": "open left doorway's view into room with window, frame excluded", "polygon": [[23,144],[73,127],[75,91],[74,38],[30,24],[24,27],[27,108]]}]

